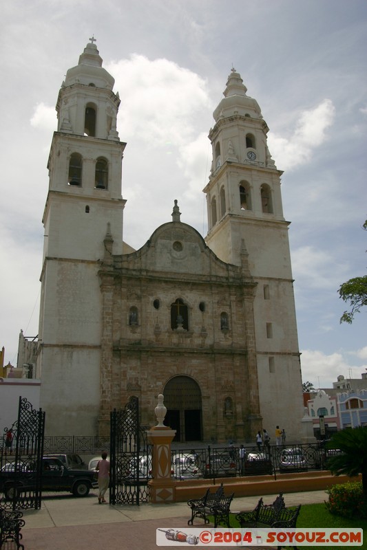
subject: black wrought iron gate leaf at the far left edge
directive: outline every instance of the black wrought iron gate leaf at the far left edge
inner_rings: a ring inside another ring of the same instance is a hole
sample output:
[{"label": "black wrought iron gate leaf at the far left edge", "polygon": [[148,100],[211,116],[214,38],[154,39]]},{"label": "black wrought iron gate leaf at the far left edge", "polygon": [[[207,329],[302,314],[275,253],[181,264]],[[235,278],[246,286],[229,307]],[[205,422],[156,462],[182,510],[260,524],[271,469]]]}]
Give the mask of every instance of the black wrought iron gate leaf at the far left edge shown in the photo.
[{"label": "black wrought iron gate leaf at the far left edge", "polygon": [[19,397],[18,420],[4,428],[1,442],[1,506],[8,509],[41,508],[41,459],[45,412]]}]

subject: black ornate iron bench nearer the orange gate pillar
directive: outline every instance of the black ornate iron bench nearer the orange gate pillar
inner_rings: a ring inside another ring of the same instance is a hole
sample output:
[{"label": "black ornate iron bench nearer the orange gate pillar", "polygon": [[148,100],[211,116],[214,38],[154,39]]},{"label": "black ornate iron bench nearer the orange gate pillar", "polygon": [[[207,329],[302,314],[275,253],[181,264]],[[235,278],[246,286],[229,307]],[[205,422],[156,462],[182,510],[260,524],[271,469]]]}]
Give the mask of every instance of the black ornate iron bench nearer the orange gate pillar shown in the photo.
[{"label": "black ornate iron bench nearer the orange gate pillar", "polygon": [[223,484],[218,487],[215,493],[211,493],[207,489],[202,498],[189,500],[187,505],[191,508],[191,518],[187,525],[193,525],[194,518],[202,518],[206,523],[209,523],[207,516],[214,516],[214,527],[217,527],[220,522],[226,523],[229,527],[229,507],[233,500],[232,493],[230,496],[224,495]]}]

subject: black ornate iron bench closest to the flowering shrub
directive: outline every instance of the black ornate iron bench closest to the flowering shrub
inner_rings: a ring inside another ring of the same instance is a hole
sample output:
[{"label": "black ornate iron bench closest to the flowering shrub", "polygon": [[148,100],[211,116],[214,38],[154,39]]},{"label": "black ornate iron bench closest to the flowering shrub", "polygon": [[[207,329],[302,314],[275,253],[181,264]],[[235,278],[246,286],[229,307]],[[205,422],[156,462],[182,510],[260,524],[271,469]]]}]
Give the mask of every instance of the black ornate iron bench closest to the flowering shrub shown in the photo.
[{"label": "black ornate iron bench closest to the flowering shrub", "polygon": [[[260,498],[256,507],[251,511],[240,511],[235,518],[242,529],[249,527],[296,527],[301,505],[286,508],[283,494],[280,493],[272,504],[264,504]],[[282,545],[277,547],[278,550]],[[296,546],[293,546],[297,550]]]}]

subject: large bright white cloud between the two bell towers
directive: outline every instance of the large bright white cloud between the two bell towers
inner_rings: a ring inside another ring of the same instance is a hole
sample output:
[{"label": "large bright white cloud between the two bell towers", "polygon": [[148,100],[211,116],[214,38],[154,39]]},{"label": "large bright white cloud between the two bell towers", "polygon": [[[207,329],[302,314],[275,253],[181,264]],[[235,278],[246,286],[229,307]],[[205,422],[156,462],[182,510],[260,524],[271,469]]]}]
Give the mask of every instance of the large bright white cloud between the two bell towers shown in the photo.
[{"label": "large bright white cloud between the two bell towers", "polygon": [[198,116],[209,107],[205,80],[167,59],[149,61],[138,54],[106,69],[116,80],[118,127],[127,139],[155,147],[181,146],[195,137]]}]

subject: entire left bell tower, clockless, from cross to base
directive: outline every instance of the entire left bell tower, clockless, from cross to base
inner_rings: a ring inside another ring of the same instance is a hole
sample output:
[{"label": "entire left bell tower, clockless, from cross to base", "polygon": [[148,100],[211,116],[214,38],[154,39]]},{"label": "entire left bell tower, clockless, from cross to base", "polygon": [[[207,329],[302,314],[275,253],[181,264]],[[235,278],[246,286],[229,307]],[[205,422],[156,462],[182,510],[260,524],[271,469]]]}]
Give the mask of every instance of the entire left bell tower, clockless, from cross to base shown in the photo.
[{"label": "entire left bell tower, clockless, from cross to base", "polygon": [[114,254],[123,252],[120,99],[94,42],[90,39],[61,85],[48,161],[37,377],[46,430],[54,434],[65,428],[95,433],[101,385],[99,261],[106,246]]}]

